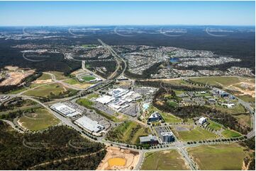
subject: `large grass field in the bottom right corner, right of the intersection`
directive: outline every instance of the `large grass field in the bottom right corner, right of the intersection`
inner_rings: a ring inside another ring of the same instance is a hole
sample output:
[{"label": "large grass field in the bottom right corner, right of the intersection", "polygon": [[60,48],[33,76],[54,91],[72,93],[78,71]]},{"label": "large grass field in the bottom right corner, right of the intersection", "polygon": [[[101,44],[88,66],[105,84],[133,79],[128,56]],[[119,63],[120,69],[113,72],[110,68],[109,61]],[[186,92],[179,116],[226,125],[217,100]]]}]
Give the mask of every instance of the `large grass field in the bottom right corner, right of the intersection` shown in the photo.
[{"label": "large grass field in the bottom right corner, right of the intersection", "polygon": [[236,143],[188,148],[200,170],[242,170],[245,148]]}]

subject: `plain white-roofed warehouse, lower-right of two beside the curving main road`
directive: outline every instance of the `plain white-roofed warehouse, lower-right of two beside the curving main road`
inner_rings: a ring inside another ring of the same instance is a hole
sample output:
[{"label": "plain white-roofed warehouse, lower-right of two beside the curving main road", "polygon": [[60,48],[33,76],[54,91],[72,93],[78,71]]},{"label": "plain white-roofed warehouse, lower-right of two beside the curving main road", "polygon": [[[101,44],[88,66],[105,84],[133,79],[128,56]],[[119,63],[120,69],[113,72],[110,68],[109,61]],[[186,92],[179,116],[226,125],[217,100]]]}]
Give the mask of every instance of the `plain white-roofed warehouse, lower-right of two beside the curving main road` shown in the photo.
[{"label": "plain white-roofed warehouse, lower-right of two beside the curving main road", "polygon": [[75,120],[74,123],[91,133],[99,133],[105,129],[104,126],[86,116]]}]

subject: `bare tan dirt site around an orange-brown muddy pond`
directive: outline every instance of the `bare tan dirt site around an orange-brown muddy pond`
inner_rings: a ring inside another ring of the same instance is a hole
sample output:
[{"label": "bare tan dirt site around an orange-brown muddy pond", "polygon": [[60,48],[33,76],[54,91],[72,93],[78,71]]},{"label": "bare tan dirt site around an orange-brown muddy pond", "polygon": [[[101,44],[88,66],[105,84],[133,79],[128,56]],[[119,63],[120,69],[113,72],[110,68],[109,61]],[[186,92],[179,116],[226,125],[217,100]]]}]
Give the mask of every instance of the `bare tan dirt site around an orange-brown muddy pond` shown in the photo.
[{"label": "bare tan dirt site around an orange-brown muddy pond", "polygon": [[118,147],[108,146],[107,153],[96,170],[133,170],[138,164],[140,154]]}]

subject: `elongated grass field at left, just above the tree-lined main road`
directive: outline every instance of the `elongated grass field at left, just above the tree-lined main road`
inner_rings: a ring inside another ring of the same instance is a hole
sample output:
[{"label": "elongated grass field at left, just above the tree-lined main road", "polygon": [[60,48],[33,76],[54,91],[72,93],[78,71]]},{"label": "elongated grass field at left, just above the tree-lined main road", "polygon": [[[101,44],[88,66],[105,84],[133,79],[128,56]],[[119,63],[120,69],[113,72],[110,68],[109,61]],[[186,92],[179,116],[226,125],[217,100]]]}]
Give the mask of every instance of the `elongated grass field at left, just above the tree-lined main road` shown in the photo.
[{"label": "elongated grass field at left, just above the tree-lined main road", "polygon": [[74,91],[70,88],[64,88],[61,84],[51,83],[45,86],[40,86],[33,90],[28,90],[26,93],[24,93],[24,95],[47,98],[51,93],[59,95],[60,93],[64,93],[67,90]]}]

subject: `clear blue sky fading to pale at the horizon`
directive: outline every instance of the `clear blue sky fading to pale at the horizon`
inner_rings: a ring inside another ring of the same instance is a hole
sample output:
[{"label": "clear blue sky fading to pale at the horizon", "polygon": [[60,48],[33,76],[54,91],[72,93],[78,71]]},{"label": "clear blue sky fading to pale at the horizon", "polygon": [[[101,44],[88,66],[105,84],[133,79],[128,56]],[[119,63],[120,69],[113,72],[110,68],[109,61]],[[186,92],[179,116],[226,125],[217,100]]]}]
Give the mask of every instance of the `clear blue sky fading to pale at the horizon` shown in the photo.
[{"label": "clear blue sky fading to pale at the horizon", "polygon": [[0,25],[255,25],[255,1],[0,1]]}]

